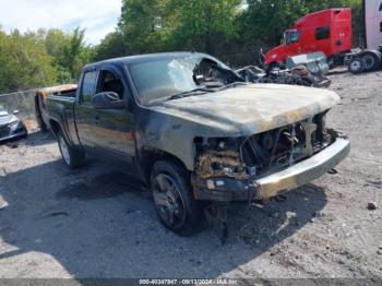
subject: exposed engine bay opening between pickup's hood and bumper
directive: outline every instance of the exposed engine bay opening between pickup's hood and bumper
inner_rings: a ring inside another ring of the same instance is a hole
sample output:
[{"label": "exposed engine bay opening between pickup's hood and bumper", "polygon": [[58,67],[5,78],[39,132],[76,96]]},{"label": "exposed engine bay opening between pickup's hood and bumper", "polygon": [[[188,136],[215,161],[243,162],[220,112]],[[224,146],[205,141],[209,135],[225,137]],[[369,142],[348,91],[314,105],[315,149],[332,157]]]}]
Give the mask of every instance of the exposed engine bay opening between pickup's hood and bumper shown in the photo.
[{"label": "exposed engine bay opening between pickup's hood and bumper", "polygon": [[248,179],[311,157],[337,138],[325,114],[248,138],[199,140],[196,175]]}]

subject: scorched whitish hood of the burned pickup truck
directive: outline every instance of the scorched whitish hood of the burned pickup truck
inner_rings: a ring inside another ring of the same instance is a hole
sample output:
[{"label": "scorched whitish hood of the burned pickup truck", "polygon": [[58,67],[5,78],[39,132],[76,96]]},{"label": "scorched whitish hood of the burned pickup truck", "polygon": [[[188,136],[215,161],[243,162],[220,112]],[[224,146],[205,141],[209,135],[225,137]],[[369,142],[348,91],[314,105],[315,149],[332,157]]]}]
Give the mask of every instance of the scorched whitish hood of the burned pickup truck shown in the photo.
[{"label": "scorched whitish hood of the burned pickup truck", "polygon": [[[164,102],[156,111],[196,123],[203,133],[251,135],[313,117],[332,108],[339,96],[312,87],[249,84],[222,92]],[[204,128],[203,128],[204,127]],[[205,132],[203,132],[205,131]]]}]

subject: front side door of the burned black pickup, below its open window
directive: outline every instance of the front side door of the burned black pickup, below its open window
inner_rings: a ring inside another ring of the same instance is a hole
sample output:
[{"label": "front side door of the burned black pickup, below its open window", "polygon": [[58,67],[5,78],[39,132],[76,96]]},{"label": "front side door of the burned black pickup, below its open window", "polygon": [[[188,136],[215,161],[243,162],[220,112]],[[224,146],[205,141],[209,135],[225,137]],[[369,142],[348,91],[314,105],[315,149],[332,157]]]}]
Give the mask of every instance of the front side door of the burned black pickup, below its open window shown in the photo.
[{"label": "front side door of the burned black pickup, below its open window", "polygon": [[[126,108],[96,109],[93,97],[102,92],[115,92]],[[133,115],[129,111],[130,92],[122,71],[114,67],[85,71],[79,104],[74,110],[77,132],[84,148],[97,157],[132,162],[135,152]]]}]

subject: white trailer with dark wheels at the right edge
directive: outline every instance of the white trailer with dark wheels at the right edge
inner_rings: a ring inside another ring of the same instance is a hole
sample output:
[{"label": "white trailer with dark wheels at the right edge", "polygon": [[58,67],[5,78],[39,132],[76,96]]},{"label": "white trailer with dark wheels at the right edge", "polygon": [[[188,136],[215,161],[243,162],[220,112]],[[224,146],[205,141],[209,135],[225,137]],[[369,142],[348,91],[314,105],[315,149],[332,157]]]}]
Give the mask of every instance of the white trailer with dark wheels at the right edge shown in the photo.
[{"label": "white trailer with dark wheels at the right edge", "polygon": [[363,0],[365,49],[346,55],[351,73],[370,72],[382,67],[382,0]]}]

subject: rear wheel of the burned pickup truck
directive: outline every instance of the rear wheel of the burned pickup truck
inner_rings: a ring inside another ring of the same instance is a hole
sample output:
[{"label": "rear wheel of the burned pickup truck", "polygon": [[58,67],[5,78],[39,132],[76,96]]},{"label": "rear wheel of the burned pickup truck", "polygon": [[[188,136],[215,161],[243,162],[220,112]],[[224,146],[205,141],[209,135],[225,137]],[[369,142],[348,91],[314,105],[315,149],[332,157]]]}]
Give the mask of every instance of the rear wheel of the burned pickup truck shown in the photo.
[{"label": "rear wheel of the burned pickup truck", "polygon": [[63,163],[71,169],[75,169],[83,165],[85,160],[85,153],[74,150],[67,141],[62,131],[57,132],[57,141],[60,148]]}]

